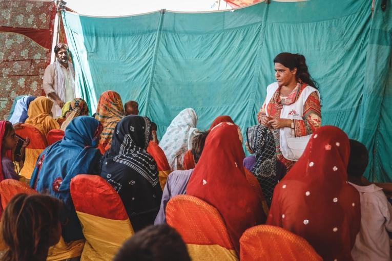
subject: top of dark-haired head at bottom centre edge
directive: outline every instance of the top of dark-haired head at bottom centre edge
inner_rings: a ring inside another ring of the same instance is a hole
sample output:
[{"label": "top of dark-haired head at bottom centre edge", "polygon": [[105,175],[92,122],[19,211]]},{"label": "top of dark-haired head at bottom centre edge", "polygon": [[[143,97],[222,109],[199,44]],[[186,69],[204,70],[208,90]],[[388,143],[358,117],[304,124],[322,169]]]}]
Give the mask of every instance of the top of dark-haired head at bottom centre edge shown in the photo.
[{"label": "top of dark-haired head at bottom centre edge", "polygon": [[164,224],[148,226],[130,237],[113,261],[190,261],[187,246],[177,231]]}]

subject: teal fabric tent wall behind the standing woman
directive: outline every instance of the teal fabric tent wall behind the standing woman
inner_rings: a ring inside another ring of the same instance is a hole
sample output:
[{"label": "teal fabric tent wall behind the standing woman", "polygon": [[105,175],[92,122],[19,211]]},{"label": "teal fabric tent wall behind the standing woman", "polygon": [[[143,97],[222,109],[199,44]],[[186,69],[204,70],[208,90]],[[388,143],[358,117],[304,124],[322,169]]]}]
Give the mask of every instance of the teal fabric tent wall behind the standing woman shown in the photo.
[{"label": "teal fabric tent wall behind the standing woman", "polygon": [[367,175],[392,181],[391,0],[259,3],[233,12],[154,12],[89,17],[65,12],[67,39],[82,98],[137,100],[158,124],[192,107],[198,127],[219,115],[256,124],[273,58],[301,53],[320,85],[322,124],[341,127],[370,151]]}]

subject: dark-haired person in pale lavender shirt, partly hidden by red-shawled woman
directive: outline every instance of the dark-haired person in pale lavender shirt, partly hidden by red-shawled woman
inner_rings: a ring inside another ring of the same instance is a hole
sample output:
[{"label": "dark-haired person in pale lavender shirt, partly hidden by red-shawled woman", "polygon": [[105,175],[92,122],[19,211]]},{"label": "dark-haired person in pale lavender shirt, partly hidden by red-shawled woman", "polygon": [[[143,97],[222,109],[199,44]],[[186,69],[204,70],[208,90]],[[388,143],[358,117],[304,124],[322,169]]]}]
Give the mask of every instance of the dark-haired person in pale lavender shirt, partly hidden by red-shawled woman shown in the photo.
[{"label": "dark-haired person in pale lavender shirt, partly hidden by red-shawled woman", "polygon": [[[192,154],[195,162],[199,161],[201,152],[204,148],[205,138],[207,138],[208,132],[202,132],[198,134],[192,141]],[[168,177],[168,182],[164,186],[162,201],[158,215],[155,219],[155,225],[166,223],[165,209],[169,200],[175,195],[185,194],[187,192],[187,185],[189,178],[191,178],[193,169],[187,170],[174,170]]]}]

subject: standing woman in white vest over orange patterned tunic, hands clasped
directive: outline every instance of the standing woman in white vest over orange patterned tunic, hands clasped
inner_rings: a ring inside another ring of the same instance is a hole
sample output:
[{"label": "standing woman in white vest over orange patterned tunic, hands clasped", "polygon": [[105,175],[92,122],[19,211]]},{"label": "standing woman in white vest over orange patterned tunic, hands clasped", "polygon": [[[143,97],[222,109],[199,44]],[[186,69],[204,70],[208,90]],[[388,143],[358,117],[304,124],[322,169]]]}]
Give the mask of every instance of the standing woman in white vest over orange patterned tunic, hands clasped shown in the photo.
[{"label": "standing woman in white vest over orange patterned tunic, hands clasped", "polygon": [[273,130],[277,157],[288,171],[321,125],[320,94],[303,55],[280,53],[274,63],[277,81],[267,86],[257,119]]}]

